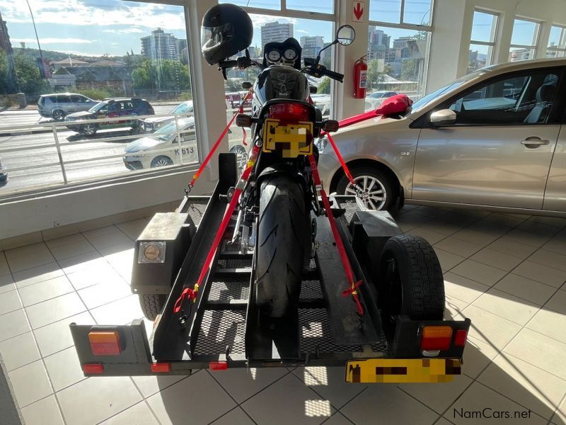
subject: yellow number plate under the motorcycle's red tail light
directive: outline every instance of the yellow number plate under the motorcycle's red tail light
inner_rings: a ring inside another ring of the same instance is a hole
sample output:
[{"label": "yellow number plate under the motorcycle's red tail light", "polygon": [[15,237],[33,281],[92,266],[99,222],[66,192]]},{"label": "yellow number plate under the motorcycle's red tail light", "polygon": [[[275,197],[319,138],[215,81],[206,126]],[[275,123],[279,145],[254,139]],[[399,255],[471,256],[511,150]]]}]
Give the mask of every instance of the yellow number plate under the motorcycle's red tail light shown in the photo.
[{"label": "yellow number plate under the motorcycle's red tail light", "polygon": [[280,152],[284,158],[313,154],[313,123],[281,124],[267,118],[263,125],[263,152]]}]

